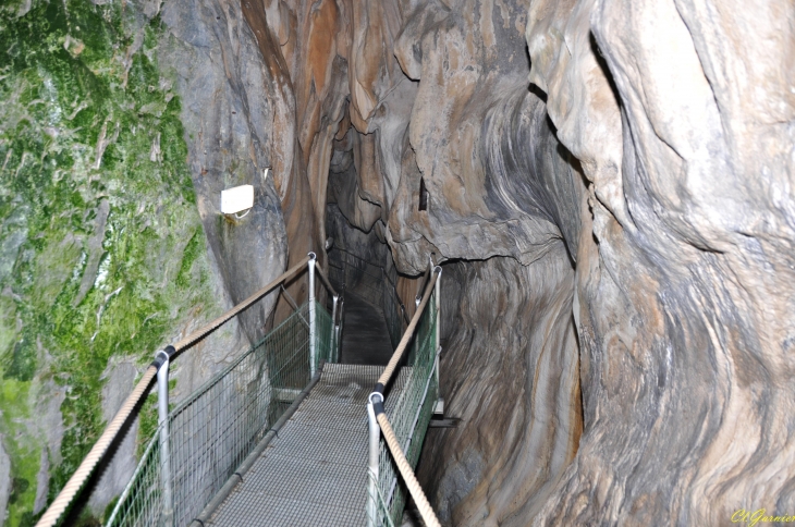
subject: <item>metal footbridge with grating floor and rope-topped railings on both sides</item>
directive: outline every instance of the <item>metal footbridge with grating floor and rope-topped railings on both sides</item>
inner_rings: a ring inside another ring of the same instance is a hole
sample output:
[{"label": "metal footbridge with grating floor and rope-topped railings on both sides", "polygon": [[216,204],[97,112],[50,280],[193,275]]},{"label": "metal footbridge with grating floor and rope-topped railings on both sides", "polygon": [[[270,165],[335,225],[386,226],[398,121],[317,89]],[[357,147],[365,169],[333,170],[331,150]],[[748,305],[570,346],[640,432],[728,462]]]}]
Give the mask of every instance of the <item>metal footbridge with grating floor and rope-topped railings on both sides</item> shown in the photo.
[{"label": "metal footbridge with grating floor and rope-topped railings on both sides", "polygon": [[[143,404],[150,392],[158,426],[140,441],[138,465],[106,526],[400,526],[409,495],[425,524],[439,525],[413,470],[441,407],[441,268],[428,267],[411,318],[394,269],[334,248],[329,271],[309,253],[158,351],[37,525],[74,520],[130,424],[151,406]],[[303,272],[308,298],[298,305],[284,284]],[[292,315],[194,393],[171,401],[172,363],[268,295],[281,295]],[[346,304],[376,321],[346,317]]]}]

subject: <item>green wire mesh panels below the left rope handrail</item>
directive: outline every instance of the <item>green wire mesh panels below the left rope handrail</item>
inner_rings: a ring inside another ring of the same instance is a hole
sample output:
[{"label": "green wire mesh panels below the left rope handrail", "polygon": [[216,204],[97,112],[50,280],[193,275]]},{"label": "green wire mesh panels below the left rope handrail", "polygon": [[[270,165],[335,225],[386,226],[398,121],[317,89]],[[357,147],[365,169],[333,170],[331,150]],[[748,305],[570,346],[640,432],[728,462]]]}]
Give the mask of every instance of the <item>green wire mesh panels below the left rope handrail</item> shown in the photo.
[{"label": "green wire mesh panels below the left rope handrail", "polygon": [[[315,303],[310,367],[309,303],[169,414],[173,525],[188,525],[334,355],[328,311]],[[159,429],[120,497],[108,526],[155,526],[163,514]]]}]

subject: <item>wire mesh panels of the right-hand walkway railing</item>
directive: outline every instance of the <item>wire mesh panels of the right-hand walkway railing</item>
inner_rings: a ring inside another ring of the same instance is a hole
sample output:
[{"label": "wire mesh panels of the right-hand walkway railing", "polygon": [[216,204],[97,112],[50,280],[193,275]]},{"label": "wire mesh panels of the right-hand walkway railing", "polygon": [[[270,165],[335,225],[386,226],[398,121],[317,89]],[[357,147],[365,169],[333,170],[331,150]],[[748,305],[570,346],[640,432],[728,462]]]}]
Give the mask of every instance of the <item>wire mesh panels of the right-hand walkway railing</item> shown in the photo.
[{"label": "wire mesh panels of the right-hand walkway railing", "polygon": [[[411,344],[405,387],[397,395],[394,406],[390,409],[391,405],[388,405],[387,409],[387,417],[413,468],[417,466],[428,422],[433,413],[433,403],[438,397],[437,331],[437,305],[433,292]],[[389,392],[386,396],[389,401]],[[379,457],[378,517],[374,524],[401,525],[408,490],[400,477],[397,466],[383,438]]]}]

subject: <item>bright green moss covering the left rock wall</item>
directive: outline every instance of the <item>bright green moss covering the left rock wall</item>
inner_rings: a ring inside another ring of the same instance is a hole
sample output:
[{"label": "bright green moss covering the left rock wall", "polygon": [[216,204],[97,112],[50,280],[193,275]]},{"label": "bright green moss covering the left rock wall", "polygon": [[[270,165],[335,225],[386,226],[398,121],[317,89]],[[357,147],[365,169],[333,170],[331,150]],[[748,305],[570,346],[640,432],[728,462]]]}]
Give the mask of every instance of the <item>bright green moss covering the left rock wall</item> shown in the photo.
[{"label": "bright green moss covering the left rock wall", "polygon": [[[180,99],[162,88],[171,83],[157,63],[160,20],[142,26],[129,2],[34,0],[17,17],[21,5],[0,7],[0,410],[15,478],[10,526],[35,519],[45,439],[32,408],[42,383],[66,389],[53,498],[105,426],[108,359],[145,364],[188,316],[220,309]],[[143,45],[129,57],[139,30]],[[103,201],[110,213],[98,225]],[[157,425],[154,403],[144,409],[140,443]]]}]

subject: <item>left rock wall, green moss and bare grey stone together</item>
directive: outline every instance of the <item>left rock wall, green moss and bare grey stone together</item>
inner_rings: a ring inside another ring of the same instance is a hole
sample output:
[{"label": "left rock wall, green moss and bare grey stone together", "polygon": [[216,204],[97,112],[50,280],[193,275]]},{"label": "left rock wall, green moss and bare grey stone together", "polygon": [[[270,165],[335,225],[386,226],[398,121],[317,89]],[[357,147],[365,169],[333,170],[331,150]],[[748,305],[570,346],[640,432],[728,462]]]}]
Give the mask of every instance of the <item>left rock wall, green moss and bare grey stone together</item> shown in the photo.
[{"label": "left rock wall, green moss and bare grey stone together", "polygon": [[[292,107],[265,91],[278,83],[241,7],[97,3],[0,7],[0,500],[11,526],[33,525],[158,348],[286,264],[280,197],[261,175],[292,170],[281,159],[294,142],[272,133]],[[219,193],[243,183],[255,207],[233,223]],[[260,335],[272,303],[180,357],[174,396]],[[121,358],[125,373],[103,376]],[[129,479],[149,417],[86,515],[101,518]]]}]

